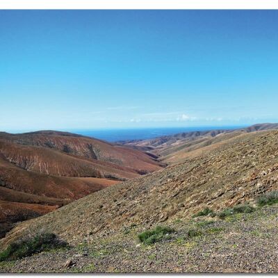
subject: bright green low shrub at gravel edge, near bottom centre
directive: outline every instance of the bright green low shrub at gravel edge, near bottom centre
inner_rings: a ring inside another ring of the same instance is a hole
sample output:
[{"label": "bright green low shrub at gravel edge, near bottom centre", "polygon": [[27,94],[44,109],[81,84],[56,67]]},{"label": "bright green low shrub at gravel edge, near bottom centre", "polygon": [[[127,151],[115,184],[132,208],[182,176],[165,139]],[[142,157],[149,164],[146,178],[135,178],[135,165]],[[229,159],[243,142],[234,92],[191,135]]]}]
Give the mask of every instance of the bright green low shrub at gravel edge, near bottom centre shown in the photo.
[{"label": "bright green low shrub at gravel edge, near bottom centre", "polygon": [[155,229],[142,232],[138,235],[138,238],[141,243],[150,245],[163,240],[163,238],[165,238],[167,234],[171,234],[173,232],[174,229],[170,227],[157,226]]}]

